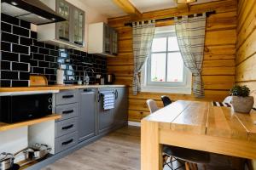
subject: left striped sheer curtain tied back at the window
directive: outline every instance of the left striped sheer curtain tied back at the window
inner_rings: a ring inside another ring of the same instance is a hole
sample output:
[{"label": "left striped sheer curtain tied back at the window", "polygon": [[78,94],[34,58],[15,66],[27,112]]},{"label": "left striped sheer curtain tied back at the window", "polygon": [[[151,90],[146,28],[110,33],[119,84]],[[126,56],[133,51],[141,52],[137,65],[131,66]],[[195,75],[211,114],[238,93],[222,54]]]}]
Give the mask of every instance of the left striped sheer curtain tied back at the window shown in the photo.
[{"label": "left striped sheer curtain tied back at the window", "polygon": [[132,47],[134,56],[132,92],[134,95],[137,95],[141,90],[139,73],[145,61],[148,59],[154,37],[154,28],[155,20],[148,20],[147,24],[145,21],[142,21],[142,23],[132,23]]}]

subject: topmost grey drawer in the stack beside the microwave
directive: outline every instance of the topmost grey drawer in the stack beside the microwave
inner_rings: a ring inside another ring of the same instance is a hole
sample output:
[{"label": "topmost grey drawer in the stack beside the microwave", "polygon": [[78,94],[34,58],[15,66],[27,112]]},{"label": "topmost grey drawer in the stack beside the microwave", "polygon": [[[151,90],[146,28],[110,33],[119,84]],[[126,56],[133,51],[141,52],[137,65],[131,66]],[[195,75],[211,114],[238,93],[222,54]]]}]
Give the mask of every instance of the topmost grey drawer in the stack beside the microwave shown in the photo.
[{"label": "topmost grey drawer in the stack beside the microwave", "polygon": [[72,104],[79,101],[79,90],[64,90],[55,95],[55,105]]}]

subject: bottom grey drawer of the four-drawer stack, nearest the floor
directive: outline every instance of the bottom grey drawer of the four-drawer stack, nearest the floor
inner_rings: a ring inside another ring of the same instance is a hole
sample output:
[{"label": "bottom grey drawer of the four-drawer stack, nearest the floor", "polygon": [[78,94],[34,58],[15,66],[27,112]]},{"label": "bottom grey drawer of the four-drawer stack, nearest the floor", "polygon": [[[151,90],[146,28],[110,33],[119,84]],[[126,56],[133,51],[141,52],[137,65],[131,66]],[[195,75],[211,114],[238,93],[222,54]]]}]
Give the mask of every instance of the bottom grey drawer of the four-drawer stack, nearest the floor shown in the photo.
[{"label": "bottom grey drawer of the four-drawer stack, nearest the floor", "polygon": [[62,150],[67,150],[76,144],[78,144],[77,132],[61,136],[60,138],[55,139],[55,153],[59,153]]}]

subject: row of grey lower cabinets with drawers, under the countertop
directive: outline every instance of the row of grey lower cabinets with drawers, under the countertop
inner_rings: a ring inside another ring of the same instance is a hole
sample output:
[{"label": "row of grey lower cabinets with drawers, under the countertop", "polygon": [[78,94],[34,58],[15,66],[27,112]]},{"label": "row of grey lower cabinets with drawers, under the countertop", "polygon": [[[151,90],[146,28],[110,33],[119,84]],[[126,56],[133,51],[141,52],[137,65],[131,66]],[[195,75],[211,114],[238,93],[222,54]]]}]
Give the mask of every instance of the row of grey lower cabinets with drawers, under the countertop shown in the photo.
[{"label": "row of grey lower cabinets with drawers, under the countertop", "polygon": [[[103,92],[114,95],[114,108],[103,109]],[[108,133],[128,122],[127,88],[84,88],[55,94],[55,153]]]}]

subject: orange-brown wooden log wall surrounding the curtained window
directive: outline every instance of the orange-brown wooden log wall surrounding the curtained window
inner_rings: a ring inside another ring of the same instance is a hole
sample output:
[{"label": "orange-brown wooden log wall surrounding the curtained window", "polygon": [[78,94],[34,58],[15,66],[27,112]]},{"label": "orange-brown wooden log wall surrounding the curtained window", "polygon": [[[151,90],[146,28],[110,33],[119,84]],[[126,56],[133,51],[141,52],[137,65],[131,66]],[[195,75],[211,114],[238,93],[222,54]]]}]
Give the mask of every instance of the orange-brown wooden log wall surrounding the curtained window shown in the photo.
[{"label": "orange-brown wooden log wall surrounding the curtained window", "polygon": [[[196,99],[193,94],[168,94],[172,100],[223,100],[229,89],[235,83],[236,58],[236,0],[222,0],[213,3],[193,5],[190,11],[181,11],[169,8],[143,14],[143,20],[160,19],[185,14],[206,12],[207,9],[216,10],[207,18],[207,31],[205,42],[205,55],[203,62],[203,82],[205,84],[204,99]],[[108,24],[119,31],[119,55],[108,58],[108,72],[116,75],[116,84],[130,86],[129,94],[129,121],[140,122],[148,115],[146,99],[155,99],[162,107],[158,93],[131,94],[133,56],[132,56],[132,30],[124,23],[131,20],[129,16],[108,19]],[[134,20],[134,19],[133,19]],[[158,22],[157,26],[170,26],[173,21]]]}]

